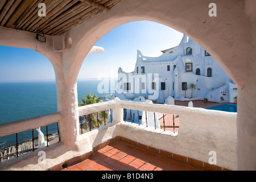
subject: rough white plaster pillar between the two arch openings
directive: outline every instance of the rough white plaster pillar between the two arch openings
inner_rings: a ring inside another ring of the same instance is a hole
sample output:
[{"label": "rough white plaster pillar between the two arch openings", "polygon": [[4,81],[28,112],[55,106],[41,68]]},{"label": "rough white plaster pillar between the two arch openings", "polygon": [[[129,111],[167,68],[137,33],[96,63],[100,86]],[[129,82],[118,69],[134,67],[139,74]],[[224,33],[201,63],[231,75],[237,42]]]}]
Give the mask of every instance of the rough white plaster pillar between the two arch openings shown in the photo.
[{"label": "rough white plaster pillar between the two arch openings", "polygon": [[[76,44],[73,46],[77,46]],[[89,50],[89,47],[87,47]],[[93,47],[88,53],[102,53],[104,48]],[[79,53],[77,53],[79,54]],[[71,147],[79,147],[77,141],[79,140],[79,109],[77,100],[77,75],[80,69],[71,71],[74,64],[78,64],[84,57],[73,56],[73,52],[65,50],[63,52],[62,65],[58,65],[55,69],[56,87],[57,87],[57,109],[61,114],[60,125],[60,139],[61,142]],[[72,57],[72,63],[69,64]],[[60,69],[61,68],[61,69]]]}]

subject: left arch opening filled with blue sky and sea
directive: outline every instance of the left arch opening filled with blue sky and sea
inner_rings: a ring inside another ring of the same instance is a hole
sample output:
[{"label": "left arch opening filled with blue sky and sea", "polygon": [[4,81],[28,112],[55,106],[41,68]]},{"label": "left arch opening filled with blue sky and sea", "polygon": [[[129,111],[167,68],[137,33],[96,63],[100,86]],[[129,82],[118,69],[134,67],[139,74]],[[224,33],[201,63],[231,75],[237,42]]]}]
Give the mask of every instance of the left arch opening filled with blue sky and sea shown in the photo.
[{"label": "left arch opening filled with blue sky and sea", "polygon": [[[32,49],[7,46],[0,46],[0,54],[0,124],[56,113],[55,72],[47,57]],[[46,135],[46,127],[41,131]],[[57,134],[57,126],[49,125],[48,131]],[[23,131],[18,142],[31,137],[31,131]],[[15,134],[0,138],[0,148],[14,143]]]}]

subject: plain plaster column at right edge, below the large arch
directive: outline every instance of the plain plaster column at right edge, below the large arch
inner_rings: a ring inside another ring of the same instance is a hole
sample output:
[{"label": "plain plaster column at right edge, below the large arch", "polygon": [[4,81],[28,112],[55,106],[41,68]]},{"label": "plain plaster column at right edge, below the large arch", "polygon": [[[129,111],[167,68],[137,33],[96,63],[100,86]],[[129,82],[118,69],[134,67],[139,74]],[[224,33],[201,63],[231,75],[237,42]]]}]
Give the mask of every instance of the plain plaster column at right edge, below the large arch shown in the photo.
[{"label": "plain plaster column at right edge, below the large arch", "polygon": [[237,105],[237,167],[256,170],[256,72],[247,85],[238,90]]}]

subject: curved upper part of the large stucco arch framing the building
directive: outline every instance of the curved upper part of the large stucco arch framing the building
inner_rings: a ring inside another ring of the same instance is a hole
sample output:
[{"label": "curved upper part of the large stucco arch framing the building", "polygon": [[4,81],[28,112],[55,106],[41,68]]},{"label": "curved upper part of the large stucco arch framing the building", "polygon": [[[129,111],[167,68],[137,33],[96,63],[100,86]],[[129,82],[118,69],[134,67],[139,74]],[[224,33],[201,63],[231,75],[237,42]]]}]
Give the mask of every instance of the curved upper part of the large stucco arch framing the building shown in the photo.
[{"label": "curved upper part of the large stucco arch framing the building", "polygon": [[[238,54],[236,49],[245,52],[245,55],[247,52],[246,57],[249,58],[250,46],[242,46],[241,43],[250,39],[250,35],[245,34],[242,29],[237,29],[237,26],[250,26],[249,22],[242,20],[243,18],[247,18],[245,12],[242,8],[240,9],[234,6],[231,1],[230,3],[228,1],[220,1],[218,3],[220,7],[218,11],[221,11],[222,14],[212,18],[208,15],[208,5],[210,1],[202,2],[199,0],[198,2],[200,3],[188,3],[188,1],[164,1],[164,3],[147,1],[147,3],[145,3],[147,5],[142,7],[142,2],[123,1],[118,4],[117,7],[114,7],[111,13],[101,14],[94,20],[88,20],[88,22],[81,24],[81,26],[73,28],[73,30],[65,35],[67,38],[72,37],[76,45],[64,52],[64,57],[67,57],[69,65],[71,66],[70,70],[67,71],[67,80],[72,80],[73,76],[76,77],[74,73],[81,67],[81,62],[89,52],[89,49],[102,36],[122,24],[138,20],[150,20],[172,27],[191,37],[202,47],[207,49],[210,55],[212,55],[230,77],[232,77],[239,88],[243,88],[245,79],[249,75],[245,70],[249,67],[246,64],[242,64],[239,60],[243,59],[249,62],[249,59],[245,59]],[[229,5],[230,9],[235,9],[237,14],[242,13],[245,17],[238,19],[234,17],[230,18],[233,14],[230,14],[229,10],[223,7],[226,5]],[[243,5],[242,2],[241,5]],[[176,6],[179,6],[179,8]],[[148,9],[150,9],[150,11],[148,11]],[[161,10],[161,12],[159,12],[159,10]],[[189,14],[193,14],[193,16],[189,17]],[[223,22],[223,24],[220,22]],[[230,24],[230,26],[226,26],[227,24]],[[237,34],[240,36],[238,37]],[[220,48],[220,44],[225,48]],[[230,56],[232,59],[230,59]],[[75,61],[76,64],[72,64],[73,61]],[[234,62],[237,63],[234,64]],[[234,71],[232,69],[234,69]]]}]

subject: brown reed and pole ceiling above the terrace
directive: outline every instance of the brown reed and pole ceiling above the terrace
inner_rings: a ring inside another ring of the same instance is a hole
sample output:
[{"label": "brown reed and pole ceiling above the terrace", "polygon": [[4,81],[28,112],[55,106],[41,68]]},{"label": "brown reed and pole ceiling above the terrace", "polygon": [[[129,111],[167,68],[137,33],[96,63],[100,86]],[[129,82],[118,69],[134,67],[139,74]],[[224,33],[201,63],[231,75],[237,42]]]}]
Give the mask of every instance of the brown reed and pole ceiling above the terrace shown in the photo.
[{"label": "brown reed and pole ceiling above the terrace", "polygon": [[[46,35],[61,35],[82,22],[109,12],[122,0],[0,0],[0,26]],[[39,16],[39,3],[46,5],[46,16]]]}]

